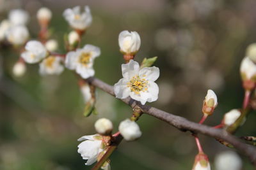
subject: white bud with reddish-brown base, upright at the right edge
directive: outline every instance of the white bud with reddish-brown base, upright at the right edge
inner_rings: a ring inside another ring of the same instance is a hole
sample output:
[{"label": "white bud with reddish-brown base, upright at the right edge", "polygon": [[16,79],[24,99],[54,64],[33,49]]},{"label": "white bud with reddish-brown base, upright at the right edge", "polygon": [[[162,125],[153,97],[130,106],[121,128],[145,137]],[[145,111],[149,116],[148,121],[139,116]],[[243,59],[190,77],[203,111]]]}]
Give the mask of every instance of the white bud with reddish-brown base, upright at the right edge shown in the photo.
[{"label": "white bud with reddish-brown base, upright at the right edge", "polygon": [[240,73],[244,89],[252,90],[255,87],[256,81],[256,64],[254,64],[249,57],[244,57],[242,60]]}]

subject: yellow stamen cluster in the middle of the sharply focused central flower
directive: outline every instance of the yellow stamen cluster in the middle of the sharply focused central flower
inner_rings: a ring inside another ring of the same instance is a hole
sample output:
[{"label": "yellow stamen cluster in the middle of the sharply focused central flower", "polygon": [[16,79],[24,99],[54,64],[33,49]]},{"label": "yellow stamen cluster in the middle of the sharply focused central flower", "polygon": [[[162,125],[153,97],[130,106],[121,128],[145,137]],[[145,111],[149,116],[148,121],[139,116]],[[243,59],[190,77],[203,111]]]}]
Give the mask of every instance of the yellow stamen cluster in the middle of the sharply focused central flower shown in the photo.
[{"label": "yellow stamen cluster in the middle of the sharply focused central flower", "polygon": [[127,87],[130,87],[131,91],[135,94],[140,94],[140,92],[146,92],[148,90],[148,81],[136,75],[127,83]]}]

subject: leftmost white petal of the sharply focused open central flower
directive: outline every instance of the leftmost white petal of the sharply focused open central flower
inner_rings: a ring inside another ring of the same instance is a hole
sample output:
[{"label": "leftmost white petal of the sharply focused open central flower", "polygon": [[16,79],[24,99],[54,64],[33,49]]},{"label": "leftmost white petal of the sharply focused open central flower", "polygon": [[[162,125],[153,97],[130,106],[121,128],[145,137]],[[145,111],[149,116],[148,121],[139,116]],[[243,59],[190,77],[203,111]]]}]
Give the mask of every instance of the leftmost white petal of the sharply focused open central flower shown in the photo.
[{"label": "leftmost white petal of the sharply focused open central flower", "polygon": [[124,99],[129,96],[129,93],[131,90],[129,87],[127,87],[128,80],[125,78],[120,79],[117,83],[114,85],[114,92],[115,96],[118,99]]}]

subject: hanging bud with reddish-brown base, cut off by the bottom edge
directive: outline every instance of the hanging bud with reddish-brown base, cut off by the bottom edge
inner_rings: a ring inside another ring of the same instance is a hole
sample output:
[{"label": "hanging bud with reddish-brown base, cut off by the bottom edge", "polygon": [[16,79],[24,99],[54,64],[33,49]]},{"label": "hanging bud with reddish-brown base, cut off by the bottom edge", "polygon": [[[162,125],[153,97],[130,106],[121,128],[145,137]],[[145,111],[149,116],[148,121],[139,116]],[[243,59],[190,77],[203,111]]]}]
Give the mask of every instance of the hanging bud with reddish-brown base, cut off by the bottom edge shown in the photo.
[{"label": "hanging bud with reddish-brown base, cut off by the bottom edge", "polygon": [[209,159],[205,153],[198,153],[192,170],[211,170]]}]

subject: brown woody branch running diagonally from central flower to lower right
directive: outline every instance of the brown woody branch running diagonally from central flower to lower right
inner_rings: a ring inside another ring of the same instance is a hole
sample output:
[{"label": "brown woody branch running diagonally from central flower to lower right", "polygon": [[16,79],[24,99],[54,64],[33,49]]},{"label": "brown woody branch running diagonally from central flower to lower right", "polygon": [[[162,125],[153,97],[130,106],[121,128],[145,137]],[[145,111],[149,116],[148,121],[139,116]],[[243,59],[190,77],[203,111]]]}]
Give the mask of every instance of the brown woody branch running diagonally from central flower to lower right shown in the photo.
[{"label": "brown woody branch running diagonally from central flower to lower right", "polygon": [[[108,85],[107,83],[104,83],[103,81],[93,77],[88,78],[87,81],[92,83],[92,85],[95,85],[95,87],[98,87],[99,89],[103,90],[104,92],[108,92],[112,96],[115,96],[113,86]],[[184,117],[179,117],[179,116],[173,115],[172,113],[168,113],[166,111],[159,110],[151,106],[141,105],[140,103],[134,101],[130,97],[127,97],[121,100],[124,103],[131,106],[132,108],[134,108],[136,105],[140,106],[143,113],[147,113],[148,115],[151,115],[160,120],[163,120],[164,122],[170,125],[173,125],[180,131],[191,131],[193,133],[200,133],[206,136],[211,136],[212,138],[217,138],[217,139],[222,139],[223,141],[227,141],[228,143],[233,145],[235,148],[237,148],[237,150],[239,150],[240,152],[244,153],[244,155],[249,157],[249,159],[253,162],[254,166],[256,167],[256,148],[254,146],[250,146],[241,142],[239,138],[236,138],[235,136],[228,134],[227,131],[214,129],[207,125],[200,125],[195,122],[191,122]]]}]

